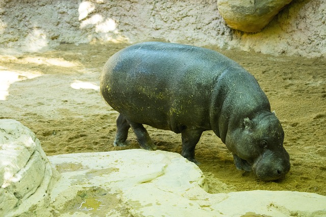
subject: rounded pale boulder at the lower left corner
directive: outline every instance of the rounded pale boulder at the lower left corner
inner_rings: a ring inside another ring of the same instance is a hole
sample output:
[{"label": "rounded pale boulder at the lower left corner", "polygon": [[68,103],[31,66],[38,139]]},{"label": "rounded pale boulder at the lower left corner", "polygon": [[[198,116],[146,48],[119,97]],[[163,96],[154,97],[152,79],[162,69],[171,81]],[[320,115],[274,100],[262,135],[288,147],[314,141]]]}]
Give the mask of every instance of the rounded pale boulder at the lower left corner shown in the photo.
[{"label": "rounded pale boulder at the lower left corner", "polygon": [[48,198],[51,177],[35,134],[16,120],[1,119],[0,213],[18,215]]}]

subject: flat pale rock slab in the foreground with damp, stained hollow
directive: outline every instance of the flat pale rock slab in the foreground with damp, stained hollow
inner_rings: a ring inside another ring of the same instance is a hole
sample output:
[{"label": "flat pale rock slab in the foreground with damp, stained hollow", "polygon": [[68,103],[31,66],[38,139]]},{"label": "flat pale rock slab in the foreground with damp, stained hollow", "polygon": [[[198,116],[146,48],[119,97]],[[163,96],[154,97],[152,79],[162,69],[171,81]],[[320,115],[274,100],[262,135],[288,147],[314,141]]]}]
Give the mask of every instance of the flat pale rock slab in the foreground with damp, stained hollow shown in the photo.
[{"label": "flat pale rock slab in the foreground with damp, stained hollow", "polygon": [[59,216],[326,215],[326,197],[313,193],[208,194],[202,171],[178,153],[132,149],[48,158],[62,174],[51,194]]}]

